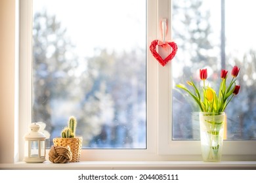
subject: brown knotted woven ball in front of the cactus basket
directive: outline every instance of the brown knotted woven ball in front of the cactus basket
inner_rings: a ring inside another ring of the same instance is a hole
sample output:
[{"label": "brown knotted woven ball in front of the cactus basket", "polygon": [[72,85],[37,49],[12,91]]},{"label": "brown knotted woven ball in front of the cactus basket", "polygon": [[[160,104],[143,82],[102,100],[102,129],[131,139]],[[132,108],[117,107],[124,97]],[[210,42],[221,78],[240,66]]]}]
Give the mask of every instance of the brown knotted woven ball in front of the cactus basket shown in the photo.
[{"label": "brown knotted woven ball in front of the cactus basket", "polygon": [[68,163],[72,160],[70,146],[51,146],[49,160],[52,163]]}]

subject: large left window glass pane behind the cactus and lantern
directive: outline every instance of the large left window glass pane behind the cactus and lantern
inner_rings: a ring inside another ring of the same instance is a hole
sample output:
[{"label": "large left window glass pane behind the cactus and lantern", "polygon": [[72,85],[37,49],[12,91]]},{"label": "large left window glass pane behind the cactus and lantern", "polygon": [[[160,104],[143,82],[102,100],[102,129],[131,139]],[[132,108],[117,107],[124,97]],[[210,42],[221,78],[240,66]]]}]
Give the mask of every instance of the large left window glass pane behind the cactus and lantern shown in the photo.
[{"label": "large left window glass pane behind the cactus and lantern", "polygon": [[32,101],[47,148],[70,116],[83,148],[146,148],[146,1],[33,0]]}]

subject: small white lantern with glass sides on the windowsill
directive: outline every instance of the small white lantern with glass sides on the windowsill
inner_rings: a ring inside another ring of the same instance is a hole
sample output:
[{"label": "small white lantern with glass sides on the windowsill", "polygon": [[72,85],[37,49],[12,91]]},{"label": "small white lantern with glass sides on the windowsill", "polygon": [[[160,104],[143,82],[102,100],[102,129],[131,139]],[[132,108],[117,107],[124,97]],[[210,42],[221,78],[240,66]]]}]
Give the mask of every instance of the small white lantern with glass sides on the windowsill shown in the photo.
[{"label": "small white lantern with glass sides on the windowsill", "polygon": [[41,125],[33,123],[30,132],[24,136],[25,154],[24,161],[27,163],[43,163],[45,159],[45,135],[39,131]]}]

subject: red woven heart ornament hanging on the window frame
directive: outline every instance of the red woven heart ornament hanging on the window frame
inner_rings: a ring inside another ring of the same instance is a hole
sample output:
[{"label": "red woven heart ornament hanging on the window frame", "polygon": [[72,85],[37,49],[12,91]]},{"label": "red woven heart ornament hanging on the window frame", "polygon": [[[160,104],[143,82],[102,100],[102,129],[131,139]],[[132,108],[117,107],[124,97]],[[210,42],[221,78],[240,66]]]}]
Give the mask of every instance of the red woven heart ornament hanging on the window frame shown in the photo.
[{"label": "red woven heart ornament hanging on the window frame", "polygon": [[[169,56],[167,56],[165,59],[161,58],[160,54],[158,54],[158,52],[156,52],[157,45],[161,46],[163,48],[166,48],[167,46],[171,46],[171,48],[173,48],[171,51],[171,54],[169,54]],[[154,40],[150,44],[150,52],[152,53],[154,58],[156,58],[159,61],[159,63],[161,63],[162,66],[165,66],[166,63],[168,63],[168,61],[170,61],[171,59],[174,58],[174,56],[176,55],[177,49],[178,49],[178,46],[175,42],[161,43],[161,41],[159,41],[159,40]]]}]

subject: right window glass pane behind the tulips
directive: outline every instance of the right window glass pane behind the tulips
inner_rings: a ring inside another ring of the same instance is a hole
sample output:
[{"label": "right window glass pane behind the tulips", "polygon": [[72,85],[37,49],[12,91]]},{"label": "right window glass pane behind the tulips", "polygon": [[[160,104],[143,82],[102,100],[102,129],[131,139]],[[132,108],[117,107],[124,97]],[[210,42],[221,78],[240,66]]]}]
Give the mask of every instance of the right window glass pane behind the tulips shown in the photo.
[{"label": "right window glass pane behind the tulips", "polygon": [[253,7],[255,2],[249,0],[173,0],[172,35],[179,46],[172,62],[173,139],[200,139],[196,113],[199,108],[175,85],[182,83],[189,88],[186,81],[190,77],[196,84],[202,84],[199,70],[207,69],[207,83],[219,92],[221,69],[228,70],[229,84],[234,65],[240,67],[236,84],[241,89],[225,110],[226,139],[256,139],[256,28],[251,24],[256,12]]}]

